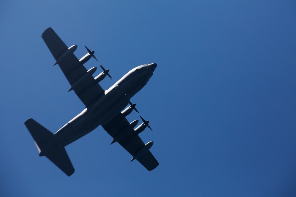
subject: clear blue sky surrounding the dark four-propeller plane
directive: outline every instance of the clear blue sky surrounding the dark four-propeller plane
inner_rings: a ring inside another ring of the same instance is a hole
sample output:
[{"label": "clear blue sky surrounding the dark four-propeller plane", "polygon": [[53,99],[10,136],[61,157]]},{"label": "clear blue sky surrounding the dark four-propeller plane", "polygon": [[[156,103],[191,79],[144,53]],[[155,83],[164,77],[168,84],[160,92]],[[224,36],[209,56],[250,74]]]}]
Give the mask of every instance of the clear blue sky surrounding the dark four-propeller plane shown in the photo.
[{"label": "clear blue sky surrounding the dark four-propeller plane", "polygon": [[[95,51],[85,67],[110,69],[104,89],[157,63],[131,99],[155,170],[101,126],[66,147],[70,177],[38,156],[24,122],[56,132],[84,108],[47,27],[78,59]],[[296,195],[295,1],[1,1],[0,35],[0,196]]]}]

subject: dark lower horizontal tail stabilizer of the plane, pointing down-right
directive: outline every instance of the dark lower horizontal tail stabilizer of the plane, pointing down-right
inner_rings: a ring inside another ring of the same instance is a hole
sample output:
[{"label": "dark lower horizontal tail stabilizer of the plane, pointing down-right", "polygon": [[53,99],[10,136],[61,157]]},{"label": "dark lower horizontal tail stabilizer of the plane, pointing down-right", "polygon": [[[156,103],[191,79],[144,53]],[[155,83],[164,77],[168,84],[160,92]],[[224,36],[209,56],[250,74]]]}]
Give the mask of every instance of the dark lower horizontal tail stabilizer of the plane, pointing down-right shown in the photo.
[{"label": "dark lower horizontal tail stabilizer of the plane, pointing down-right", "polygon": [[45,157],[52,161],[66,175],[71,176],[75,172],[74,167],[64,147],[56,152],[45,155]]}]

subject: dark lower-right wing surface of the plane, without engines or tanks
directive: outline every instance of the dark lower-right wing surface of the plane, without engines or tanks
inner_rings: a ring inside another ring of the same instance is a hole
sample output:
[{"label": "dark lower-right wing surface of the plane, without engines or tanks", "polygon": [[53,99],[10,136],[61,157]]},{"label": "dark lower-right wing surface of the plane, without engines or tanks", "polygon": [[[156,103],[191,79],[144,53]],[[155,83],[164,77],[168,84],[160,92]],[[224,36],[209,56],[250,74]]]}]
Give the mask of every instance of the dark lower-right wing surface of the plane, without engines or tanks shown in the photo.
[{"label": "dark lower-right wing surface of the plane, without engines or tanks", "polygon": [[[129,122],[126,120],[125,116],[122,113],[118,113],[114,118],[112,118],[109,122],[102,125],[102,127],[109,133],[110,136],[115,139],[115,137],[124,130],[129,125]],[[128,134],[118,140],[118,143],[126,149],[133,157],[141,150],[145,144],[141,140],[138,134],[135,133],[135,130],[131,128],[131,130],[126,131]],[[152,155],[152,153],[148,150],[143,155],[137,158],[137,160],[149,171],[156,168],[159,163]]]}]

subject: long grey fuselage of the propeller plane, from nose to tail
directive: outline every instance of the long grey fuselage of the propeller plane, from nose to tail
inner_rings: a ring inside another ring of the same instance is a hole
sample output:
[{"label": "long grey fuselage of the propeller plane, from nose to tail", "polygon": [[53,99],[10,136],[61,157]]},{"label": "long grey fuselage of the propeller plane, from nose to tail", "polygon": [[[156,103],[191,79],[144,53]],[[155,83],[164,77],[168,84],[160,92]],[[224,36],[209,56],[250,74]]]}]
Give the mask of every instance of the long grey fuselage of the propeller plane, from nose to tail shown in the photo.
[{"label": "long grey fuselage of the propeller plane, from nose to tail", "polygon": [[104,95],[70,120],[43,147],[40,156],[49,154],[67,146],[93,131],[99,125],[107,123],[120,113],[129,100],[142,89],[156,68],[156,64],[138,66],[104,92]]}]

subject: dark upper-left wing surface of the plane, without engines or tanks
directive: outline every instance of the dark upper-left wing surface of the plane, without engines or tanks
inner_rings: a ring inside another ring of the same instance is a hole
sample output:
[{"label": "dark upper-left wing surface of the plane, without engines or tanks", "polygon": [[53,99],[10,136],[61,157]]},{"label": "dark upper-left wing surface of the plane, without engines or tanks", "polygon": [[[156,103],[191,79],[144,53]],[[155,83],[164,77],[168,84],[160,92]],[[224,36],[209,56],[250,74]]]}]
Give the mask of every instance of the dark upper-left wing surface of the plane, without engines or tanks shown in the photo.
[{"label": "dark upper-left wing surface of the plane, without engines or tanks", "polygon": [[[41,37],[56,61],[68,49],[67,45],[65,45],[51,27],[48,27],[42,33]],[[94,83],[94,77],[87,72],[83,65],[76,66],[78,62],[79,60],[76,56],[70,53],[62,61],[59,61],[58,64],[71,86],[83,76],[83,84],[87,85],[76,86],[73,90],[83,104],[87,106],[104,95],[104,90],[98,83]]]}]

